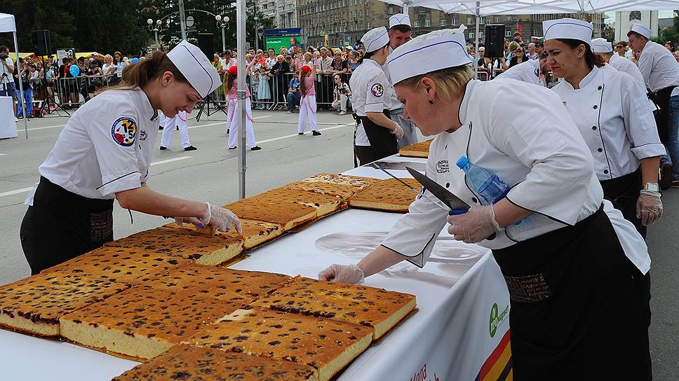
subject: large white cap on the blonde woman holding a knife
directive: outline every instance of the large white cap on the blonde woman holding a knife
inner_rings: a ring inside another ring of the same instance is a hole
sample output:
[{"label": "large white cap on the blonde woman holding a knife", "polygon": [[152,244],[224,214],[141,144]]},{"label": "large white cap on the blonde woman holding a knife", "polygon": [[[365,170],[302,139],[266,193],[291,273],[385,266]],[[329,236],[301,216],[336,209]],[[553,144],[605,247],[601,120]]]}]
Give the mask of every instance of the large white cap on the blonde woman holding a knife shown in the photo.
[{"label": "large white cap on the blonde woman holding a knife", "polygon": [[469,64],[464,41],[464,25],[441,29],[415,37],[394,49],[386,60],[392,83],[431,71]]}]

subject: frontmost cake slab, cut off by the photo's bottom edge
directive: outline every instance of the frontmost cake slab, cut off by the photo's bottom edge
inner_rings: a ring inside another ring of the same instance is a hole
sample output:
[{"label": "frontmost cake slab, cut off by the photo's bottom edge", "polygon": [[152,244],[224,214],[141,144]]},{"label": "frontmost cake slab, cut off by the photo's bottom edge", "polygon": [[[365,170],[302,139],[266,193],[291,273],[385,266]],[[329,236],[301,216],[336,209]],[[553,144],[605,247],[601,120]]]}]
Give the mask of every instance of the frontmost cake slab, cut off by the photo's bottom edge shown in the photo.
[{"label": "frontmost cake slab, cut off by the photo's bottom edge", "polygon": [[135,366],[112,381],[317,381],[316,370],[219,349],[175,345],[168,352]]}]

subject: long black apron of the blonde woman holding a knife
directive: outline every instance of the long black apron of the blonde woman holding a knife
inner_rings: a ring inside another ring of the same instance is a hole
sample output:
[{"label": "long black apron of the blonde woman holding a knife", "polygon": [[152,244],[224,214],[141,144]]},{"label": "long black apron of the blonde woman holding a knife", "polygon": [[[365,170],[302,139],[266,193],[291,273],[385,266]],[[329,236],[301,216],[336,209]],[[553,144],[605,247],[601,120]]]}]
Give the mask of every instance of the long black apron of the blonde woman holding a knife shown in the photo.
[{"label": "long black apron of the blonde woman holding a knife", "polygon": [[650,380],[645,296],[603,209],[492,253],[515,380]]}]

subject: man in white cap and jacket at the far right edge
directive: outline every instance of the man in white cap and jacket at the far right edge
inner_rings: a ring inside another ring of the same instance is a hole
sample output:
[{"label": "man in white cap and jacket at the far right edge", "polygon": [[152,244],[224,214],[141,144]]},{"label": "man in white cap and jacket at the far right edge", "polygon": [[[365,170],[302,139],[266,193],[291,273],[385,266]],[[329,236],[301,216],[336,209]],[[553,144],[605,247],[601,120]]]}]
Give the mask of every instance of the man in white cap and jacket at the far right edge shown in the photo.
[{"label": "man in white cap and jacket at the far right edge", "polygon": [[[660,109],[658,132],[669,155],[660,160],[660,183],[661,188],[668,188],[679,186],[679,64],[664,46],[649,41],[650,36],[651,30],[638,22],[627,33],[629,46],[640,53],[639,71]],[[671,177],[667,175],[670,171]]]}]

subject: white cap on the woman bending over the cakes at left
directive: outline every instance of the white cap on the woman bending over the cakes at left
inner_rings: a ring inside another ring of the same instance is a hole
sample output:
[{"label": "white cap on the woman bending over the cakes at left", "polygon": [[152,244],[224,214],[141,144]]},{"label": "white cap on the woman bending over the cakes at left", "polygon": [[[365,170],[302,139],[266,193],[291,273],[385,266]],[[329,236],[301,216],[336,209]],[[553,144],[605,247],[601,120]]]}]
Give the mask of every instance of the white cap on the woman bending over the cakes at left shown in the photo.
[{"label": "white cap on the woman bending over the cakes at left", "polygon": [[222,85],[220,74],[213,67],[198,46],[182,40],[168,53],[168,58],[182,72],[191,86],[201,95],[207,97],[210,92]]}]

